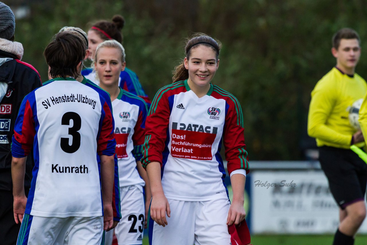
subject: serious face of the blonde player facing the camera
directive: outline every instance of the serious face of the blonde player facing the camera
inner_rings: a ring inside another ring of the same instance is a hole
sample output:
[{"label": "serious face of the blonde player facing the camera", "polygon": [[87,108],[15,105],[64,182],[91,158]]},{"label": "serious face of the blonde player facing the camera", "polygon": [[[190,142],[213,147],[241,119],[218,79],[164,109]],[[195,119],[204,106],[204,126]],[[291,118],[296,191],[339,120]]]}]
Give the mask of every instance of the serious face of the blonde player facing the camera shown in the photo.
[{"label": "serious face of the blonde player facing the camera", "polygon": [[120,72],[125,69],[126,62],[121,61],[121,51],[117,48],[102,47],[98,49],[95,70],[99,82],[104,86],[118,86]]}]

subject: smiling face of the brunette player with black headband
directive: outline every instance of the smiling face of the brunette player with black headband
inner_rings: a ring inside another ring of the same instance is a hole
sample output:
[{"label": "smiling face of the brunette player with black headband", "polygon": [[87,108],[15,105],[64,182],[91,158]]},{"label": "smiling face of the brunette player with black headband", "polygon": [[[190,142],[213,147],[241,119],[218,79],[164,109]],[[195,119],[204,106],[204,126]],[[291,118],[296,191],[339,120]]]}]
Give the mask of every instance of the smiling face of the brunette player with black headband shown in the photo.
[{"label": "smiling face of the brunette player with black headband", "polygon": [[215,50],[211,47],[199,44],[198,47],[191,48],[189,59],[185,57],[185,68],[188,69],[188,84],[198,89],[210,87],[210,81],[219,67],[219,60]]}]

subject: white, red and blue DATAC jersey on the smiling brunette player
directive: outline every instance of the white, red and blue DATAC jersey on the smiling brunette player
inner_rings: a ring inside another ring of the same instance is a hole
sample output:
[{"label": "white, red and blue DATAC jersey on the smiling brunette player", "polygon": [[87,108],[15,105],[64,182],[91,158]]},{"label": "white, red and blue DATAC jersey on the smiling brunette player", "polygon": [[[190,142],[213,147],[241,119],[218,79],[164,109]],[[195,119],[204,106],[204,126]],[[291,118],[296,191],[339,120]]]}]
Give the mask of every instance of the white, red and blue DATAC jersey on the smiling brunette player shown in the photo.
[{"label": "white, red and blue DATAC jersey on the smiling brunette player", "polygon": [[248,172],[242,109],[230,93],[211,85],[198,98],[187,80],[160,89],[145,124],[142,164],[161,163],[168,199],[207,201],[228,197],[225,168],[219,154],[225,147],[228,172]]}]

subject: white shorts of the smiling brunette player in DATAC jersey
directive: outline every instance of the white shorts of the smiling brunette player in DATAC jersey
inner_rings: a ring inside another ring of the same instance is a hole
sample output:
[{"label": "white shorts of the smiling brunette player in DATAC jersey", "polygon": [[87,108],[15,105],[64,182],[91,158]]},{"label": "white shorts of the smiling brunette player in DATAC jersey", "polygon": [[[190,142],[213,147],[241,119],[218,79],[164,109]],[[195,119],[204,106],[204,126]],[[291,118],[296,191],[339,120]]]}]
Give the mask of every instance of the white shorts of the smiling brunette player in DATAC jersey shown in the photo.
[{"label": "white shorts of the smiling brunette player in DATAC jersey", "polygon": [[203,202],[168,199],[171,217],[168,225],[159,226],[149,217],[148,235],[151,245],[230,245],[226,224],[228,199]]}]

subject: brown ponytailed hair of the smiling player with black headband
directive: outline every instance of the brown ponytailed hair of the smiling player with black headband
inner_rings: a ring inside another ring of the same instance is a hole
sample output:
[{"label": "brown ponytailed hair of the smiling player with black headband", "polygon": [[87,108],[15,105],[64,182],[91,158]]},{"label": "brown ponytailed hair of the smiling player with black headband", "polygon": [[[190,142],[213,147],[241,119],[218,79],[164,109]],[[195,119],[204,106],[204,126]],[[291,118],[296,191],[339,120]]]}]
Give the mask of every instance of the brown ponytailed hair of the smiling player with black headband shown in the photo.
[{"label": "brown ponytailed hair of the smiling player with black headband", "polygon": [[[218,60],[219,51],[221,50],[222,44],[218,40],[215,40],[204,33],[196,33],[192,37],[187,39],[185,45],[185,54],[187,60],[189,60],[190,58],[191,50],[197,48],[199,45],[204,45],[212,48],[212,50],[214,50],[215,53],[217,54],[216,58]],[[189,78],[189,71],[185,68],[183,60],[181,64],[175,67],[172,74],[173,74],[172,80],[174,83]]]}]

